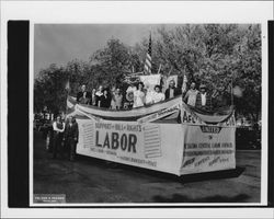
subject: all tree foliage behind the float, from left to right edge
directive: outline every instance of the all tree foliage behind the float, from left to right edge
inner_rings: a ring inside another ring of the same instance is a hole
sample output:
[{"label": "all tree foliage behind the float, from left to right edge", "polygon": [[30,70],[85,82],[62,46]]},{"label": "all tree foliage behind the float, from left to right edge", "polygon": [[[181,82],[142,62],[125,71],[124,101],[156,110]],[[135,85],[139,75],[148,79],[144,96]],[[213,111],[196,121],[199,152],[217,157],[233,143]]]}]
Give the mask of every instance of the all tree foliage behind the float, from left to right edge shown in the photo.
[{"label": "all tree foliage behind the float, from left to right edge", "polygon": [[[65,108],[65,83],[75,95],[81,83],[88,88],[119,85],[125,73],[144,70],[148,38],[130,47],[112,38],[91,54],[89,61],[71,60],[66,67],[49,66],[34,84],[34,106]],[[189,82],[206,83],[209,90],[231,82],[241,88],[235,96],[237,111],[258,119],[261,112],[261,27],[237,24],[186,24],[164,26],[152,35],[152,72],[187,76]]]}]

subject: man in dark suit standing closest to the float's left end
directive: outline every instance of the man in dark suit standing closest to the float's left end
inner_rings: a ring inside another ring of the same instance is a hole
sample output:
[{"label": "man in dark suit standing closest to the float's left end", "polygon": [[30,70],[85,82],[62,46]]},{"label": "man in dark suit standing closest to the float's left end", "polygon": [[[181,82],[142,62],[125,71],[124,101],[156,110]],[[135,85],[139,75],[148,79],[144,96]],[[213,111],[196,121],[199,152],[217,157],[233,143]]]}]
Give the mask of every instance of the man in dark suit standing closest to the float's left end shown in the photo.
[{"label": "man in dark suit standing closest to the float's left end", "polygon": [[78,142],[79,129],[76,118],[70,116],[65,127],[65,142],[69,149],[69,160],[75,161],[76,158],[76,145]]}]

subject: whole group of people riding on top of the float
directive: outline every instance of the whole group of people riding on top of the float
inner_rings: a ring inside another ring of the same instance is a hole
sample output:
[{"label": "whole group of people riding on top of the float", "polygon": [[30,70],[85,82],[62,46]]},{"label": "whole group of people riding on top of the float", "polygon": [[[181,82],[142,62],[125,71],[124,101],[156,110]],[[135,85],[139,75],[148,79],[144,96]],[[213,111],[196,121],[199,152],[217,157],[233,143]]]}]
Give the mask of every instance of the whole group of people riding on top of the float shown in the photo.
[{"label": "whole group of people riding on top of the float", "polygon": [[[85,85],[81,85],[81,91],[77,94],[77,102],[89,104],[109,110],[130,110],[145,105],[151,105],[161,101],[181,95],[183,101],[193,107],[209,110],[229,105],[229,96],[224,90],[224,87],[218,90],[218,95],[207,92],[205,84],[199,84],[199,90],[196,89],[196,83],[192,82],[190,89],[184,92],[175,87],[175,81],[169,82],[169,88],[163,93],[160,85],[155,85],[153,90],[146,89],[142,82],[137,85],[130,84],[125,94],[121,88],[99,87],[98,90],[92,89],[90,93]],[[124,96],[125,95],[125,96]]]}]

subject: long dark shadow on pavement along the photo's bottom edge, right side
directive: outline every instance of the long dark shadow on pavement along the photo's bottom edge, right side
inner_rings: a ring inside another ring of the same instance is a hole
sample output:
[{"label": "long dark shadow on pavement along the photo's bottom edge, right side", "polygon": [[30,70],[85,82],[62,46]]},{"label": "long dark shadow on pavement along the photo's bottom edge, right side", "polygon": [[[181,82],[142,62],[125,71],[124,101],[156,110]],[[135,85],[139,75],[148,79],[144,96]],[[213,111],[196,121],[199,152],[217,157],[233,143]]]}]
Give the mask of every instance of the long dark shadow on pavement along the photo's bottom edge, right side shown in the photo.
[{"label": "long dark shadow on pavement along the photo's bottom edge, right side", "polygon": [[185,195],[174,194],[171,198],[157,195],[153,196],[153,200],[156,203],[243,203],[249,197],[246,194],[239,194],[233,197],[215,195],[205,198],[191,198]]}]

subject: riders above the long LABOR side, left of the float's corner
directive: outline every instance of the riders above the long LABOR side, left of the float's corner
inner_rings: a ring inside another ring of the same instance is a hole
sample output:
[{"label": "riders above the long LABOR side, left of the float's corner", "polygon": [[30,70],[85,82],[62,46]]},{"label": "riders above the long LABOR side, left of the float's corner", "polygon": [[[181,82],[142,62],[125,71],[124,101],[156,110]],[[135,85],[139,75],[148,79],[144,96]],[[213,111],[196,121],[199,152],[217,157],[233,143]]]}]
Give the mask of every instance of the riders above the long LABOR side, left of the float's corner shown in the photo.
[{"label": "riders above the long LABOR side, left of the float's corner", "polygon": [[121,88],[113,87],[110,90],[102,85],[98,90],[92,89],[92,92],[89,92],[83,84],[81,91],[77,94],[77,102],[109,110],[130,110],[159,103],[180,94],[182,94],[182,91],[175,87],[173,80],[170,81],[164,93],[159,84],[155,85],[153,90],[149,90],[145,88],[142,82],[138,82],[137,85],[130,84],[125,93]]}]

